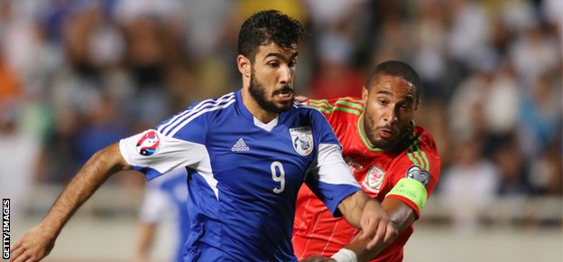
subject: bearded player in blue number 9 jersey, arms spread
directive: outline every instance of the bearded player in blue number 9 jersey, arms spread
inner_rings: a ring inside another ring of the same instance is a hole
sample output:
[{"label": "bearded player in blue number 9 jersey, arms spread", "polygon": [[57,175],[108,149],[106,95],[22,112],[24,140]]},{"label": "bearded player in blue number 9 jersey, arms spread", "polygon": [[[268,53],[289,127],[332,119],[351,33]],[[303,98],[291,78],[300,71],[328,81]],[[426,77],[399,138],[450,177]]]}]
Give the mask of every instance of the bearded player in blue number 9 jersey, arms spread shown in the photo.
[{"label": "bearded player in blue number 9 jersey, arms spread", "polygon": [[[291,245],[303,182],[335,216],[362,229],[367,247],[392,238],[389,218],[355,181],[318,110],[294,102],[301,24],[277,11],[254,14],[238,36],[242,89],[190,106],[155,129],[94,154],[10,261],[38,261],[70,216],[111,174],[148,179],[188,170],[184,261],[297,261]],[[146,141],[150,139],[150,141]]]}]

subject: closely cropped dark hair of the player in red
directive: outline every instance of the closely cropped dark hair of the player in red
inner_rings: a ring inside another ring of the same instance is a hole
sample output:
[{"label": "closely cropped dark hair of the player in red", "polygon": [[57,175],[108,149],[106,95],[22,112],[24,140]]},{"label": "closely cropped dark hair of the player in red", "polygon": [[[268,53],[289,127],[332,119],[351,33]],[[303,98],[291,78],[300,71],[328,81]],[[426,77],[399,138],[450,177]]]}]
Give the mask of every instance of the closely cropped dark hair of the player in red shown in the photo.
[{"label": "closely cropped dark hair of the player in red", "polygon": [[365,88],[371,89],[372,85],[379,80],[380,76],[400,77],[401,79],[410,82],[414,86],[414,96],[416,102],[419,102],[420,89],[422,88],[420,84],[420,77],[410,65],[401,61],[384,61],[376,65],[367,77]]}]

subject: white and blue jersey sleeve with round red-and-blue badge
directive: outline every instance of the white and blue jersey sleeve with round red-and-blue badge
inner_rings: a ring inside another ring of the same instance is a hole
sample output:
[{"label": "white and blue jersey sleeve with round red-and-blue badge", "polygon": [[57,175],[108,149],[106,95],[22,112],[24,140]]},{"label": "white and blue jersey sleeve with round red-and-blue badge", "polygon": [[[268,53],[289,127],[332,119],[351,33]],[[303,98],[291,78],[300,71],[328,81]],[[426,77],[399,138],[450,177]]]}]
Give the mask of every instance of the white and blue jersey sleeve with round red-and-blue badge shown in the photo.
[{"label": "white and blue jersey sleeve with round red-and-blue badge", "polygon": [[[189,110],[188,110],[189,111]],[[185,113],[179,114],[180,116]],[[189,167],[198,170],[210,166],[205,155],[208,123],[204,117],[165,121],[157,129],[149,129],[119,142],[125,161],[148,180],[171,170]],[[202,165],[203,164],[203,165]]]}]

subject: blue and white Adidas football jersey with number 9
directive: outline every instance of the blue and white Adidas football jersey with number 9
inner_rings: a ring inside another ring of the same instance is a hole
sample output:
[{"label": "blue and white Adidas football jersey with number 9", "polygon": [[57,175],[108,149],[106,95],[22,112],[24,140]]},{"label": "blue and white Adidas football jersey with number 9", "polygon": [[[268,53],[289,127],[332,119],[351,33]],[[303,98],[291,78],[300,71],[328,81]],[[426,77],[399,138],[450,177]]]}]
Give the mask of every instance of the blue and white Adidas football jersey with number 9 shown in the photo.
[{"label": "blue and white Adidas football jersey with number 9", "polygon": [[361,190],[318,110],[295,103],[264,124],[240,91],[122,139],[120,150],[148,179],[187,168],[185,261],[297,261],[291,230],[301,184],[335,216],[340,201]]}]

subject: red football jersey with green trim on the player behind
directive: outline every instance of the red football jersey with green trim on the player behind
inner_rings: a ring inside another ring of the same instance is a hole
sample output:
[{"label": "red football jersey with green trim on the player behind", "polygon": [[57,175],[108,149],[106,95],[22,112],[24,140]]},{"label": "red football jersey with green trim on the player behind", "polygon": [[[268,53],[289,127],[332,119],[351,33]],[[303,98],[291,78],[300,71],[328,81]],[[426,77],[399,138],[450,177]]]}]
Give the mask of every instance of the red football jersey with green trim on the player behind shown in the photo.
[{"label": "red football jersey with green trim on the player behind", "polygon": [[[428,196],[434,190],[440,173],[440,159],[434,140],[426,129],[413,124],[401,143],[392,150],[382,151],[370,147],[360,131],[359,120],[365,106],[361,99],[310,100],[309,105],[318,108],[327,117],[343,147],[346,163],[364,192],[371,197],[383,201],[401,178],[417,168],[429,173],[428,181],[423,182],[426,183]],[[404,201],[419,218],[420,211],[414,202],[397,195],[388,197]],[[315,254],[330,257],[350,243],[359,231],[343,217],[334,218],[309,187],[302,185],[297,197],[292,239],[295,255],[300,260]],[[401,261],[402,248],[411,234],[412,226],[371,261]]]}]

